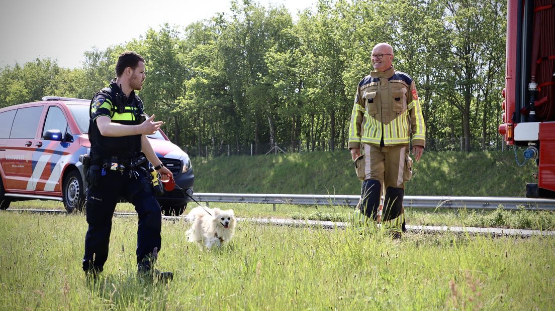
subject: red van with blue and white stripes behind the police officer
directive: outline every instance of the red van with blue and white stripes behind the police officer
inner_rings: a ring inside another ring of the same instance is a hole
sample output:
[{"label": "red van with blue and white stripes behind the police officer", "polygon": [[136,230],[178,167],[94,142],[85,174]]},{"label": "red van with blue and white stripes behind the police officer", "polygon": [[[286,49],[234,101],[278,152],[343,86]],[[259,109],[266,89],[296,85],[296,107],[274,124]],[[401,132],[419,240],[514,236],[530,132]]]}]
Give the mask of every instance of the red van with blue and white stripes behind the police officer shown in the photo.
[{"label": "red van with blue and white stripes behind the police officer", "polygon": [[[79,155],[88,154],[89,100],[43,97],[0,109],[0,209],[12,201],[58,200],[82,210],[87,184]],[[189,156],[162,131],[149,136],[181,190],[157,197],[165,215],[180,215],[193,194]]]}]

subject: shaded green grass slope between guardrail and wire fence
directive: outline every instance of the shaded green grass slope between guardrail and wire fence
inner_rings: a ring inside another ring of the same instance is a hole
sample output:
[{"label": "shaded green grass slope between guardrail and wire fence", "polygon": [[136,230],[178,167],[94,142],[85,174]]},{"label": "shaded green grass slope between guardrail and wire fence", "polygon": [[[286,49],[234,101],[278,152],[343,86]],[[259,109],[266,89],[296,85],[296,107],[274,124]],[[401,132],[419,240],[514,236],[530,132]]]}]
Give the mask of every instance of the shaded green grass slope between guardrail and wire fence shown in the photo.
[{"label": "shaded green grass slope between guardrail and wire fence", "polygon": [[[193,158],[195,191],[360,194],[348,151]],[[506,152],[424,152],[406,195],[524,196],[537,166]]]}]

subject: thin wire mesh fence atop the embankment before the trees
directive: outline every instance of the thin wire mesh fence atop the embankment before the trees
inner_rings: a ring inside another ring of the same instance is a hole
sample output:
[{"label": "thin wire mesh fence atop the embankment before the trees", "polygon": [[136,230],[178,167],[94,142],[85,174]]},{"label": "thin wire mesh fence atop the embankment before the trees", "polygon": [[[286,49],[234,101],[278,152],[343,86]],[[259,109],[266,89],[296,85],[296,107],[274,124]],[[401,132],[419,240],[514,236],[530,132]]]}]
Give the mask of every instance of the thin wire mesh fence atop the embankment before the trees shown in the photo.
[{"label": "thin wire mesh fence atop the embankment before the trees", "polygon": [[[470,147],[472,151],[504,151],[507,149],[502,137],[471,138]],[[322,142],[278,142],[251,143],[251,144],[218,144],[210,146],[185,146],[182,148],[189,157],[222,157],[230,155],[264,155],[278,153],[305,153],[314,151],[338,151],[346,150],[347,146],[335,146],[331,148],[328,141]],[[427,151],[465,151],[465,138],[455,137],[447,139],[426,139]]]}]

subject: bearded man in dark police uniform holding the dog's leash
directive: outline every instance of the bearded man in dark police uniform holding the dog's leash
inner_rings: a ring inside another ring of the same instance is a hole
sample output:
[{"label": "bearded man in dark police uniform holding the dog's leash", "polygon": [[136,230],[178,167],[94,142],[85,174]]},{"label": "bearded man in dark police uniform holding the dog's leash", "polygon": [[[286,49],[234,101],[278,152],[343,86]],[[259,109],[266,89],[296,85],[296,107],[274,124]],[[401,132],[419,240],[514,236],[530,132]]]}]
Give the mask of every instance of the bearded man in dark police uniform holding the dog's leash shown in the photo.
[{"label": "bearded man in dark police uniform holding the dog's leash", "polygon": [[[162,125],[154,115],[145,120],[143,102],[135,94],[143,88],[145,62],[128,51],[115,65],[116,79],[100,90],[90,104],[90,168],[87,172],[87,222],[83,270],[96,278],[108,258],[112,216],[120,197],[135,206],[138,273],[149,279],[173,279],[173,273],[153,268],[160,250],[162,214],[155,198],[146,159],[163,179],[165,168],[147,139]],[[146,159],[144,159],[146,156]]]}]

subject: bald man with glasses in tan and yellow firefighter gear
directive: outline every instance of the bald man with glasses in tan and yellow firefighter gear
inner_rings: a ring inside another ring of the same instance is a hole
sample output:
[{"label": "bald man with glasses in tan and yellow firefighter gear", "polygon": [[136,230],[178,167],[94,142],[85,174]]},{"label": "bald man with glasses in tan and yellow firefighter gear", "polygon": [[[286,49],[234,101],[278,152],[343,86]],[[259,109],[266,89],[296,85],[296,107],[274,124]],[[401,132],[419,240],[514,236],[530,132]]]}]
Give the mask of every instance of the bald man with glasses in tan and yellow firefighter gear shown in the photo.
[{"label": "bald man with glasses in tan and yellow firefighter gear", "polygon": [[[361,213],[376,221],[382,189],[385,189],[382,228],[389,230],[393,237],[401,237],[405,231],[405,182],[412,176],[410,143],[412,140],[412,152],[420,160],[426,143],[426,126],[414,80],[396,71],[392,61],[391,45],[374,46],[374,71],[359,82],[356,90],[349,149],[362,180]],[[362,156],[361,148],[364,149]]]}]

